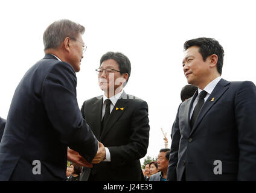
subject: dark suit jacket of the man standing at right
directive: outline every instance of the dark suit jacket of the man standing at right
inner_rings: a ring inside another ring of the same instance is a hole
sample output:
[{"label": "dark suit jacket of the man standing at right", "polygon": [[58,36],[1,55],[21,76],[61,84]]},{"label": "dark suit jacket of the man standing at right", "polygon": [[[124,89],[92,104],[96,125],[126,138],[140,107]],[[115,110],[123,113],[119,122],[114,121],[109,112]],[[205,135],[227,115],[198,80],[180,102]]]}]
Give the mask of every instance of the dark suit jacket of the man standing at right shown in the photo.
[{"label": "dark suit jacket of the man standing at right", "polygon": [[[221,79],[190,128],[197,92],[181,103],[171,133],[168,180],[256,180],[256,87]],[[214,98],[214,100],[213,100]],[[214,174],[214,160],[222,174]]]}]

